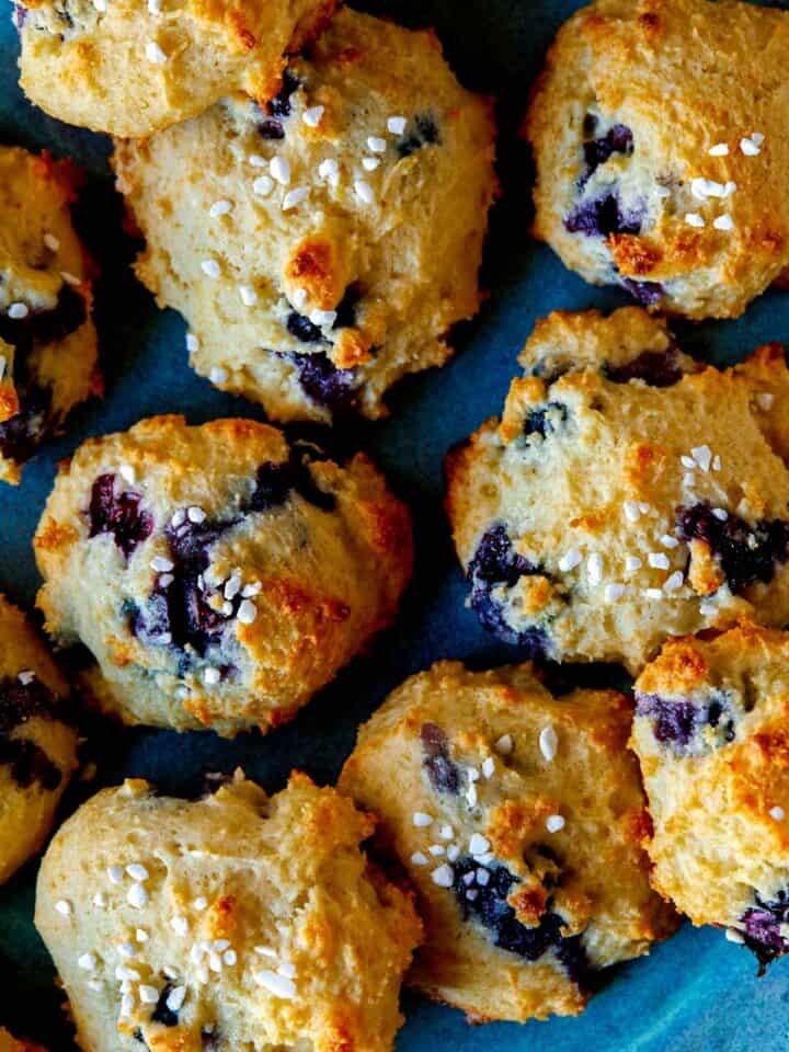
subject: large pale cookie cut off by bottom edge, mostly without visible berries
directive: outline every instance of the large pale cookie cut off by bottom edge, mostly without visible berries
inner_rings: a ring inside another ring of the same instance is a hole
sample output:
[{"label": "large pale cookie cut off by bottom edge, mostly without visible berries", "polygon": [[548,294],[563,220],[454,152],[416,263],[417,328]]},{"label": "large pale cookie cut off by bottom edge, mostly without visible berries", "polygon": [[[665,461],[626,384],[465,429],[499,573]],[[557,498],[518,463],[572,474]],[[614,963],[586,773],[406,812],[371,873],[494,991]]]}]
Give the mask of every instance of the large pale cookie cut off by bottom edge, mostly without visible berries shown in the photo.
[{"label": "large pale cookie cut off by bottom edge, mostly without visible berries", "polygon": [[389,1052],[421,925],[334,789],[105,789],[42,864],[35,923],[83,1052]]}]

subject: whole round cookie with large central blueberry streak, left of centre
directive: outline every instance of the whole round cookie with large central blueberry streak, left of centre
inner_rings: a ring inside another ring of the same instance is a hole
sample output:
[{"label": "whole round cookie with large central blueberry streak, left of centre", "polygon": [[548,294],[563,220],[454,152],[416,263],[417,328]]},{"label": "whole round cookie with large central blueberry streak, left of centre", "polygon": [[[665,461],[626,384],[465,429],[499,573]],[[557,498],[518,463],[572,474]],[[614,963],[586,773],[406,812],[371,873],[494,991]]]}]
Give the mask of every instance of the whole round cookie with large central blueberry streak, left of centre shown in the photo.
[{"label": "whole round cookie with large central blueberry streak, left of centre", "polygon": [[364,455],[180,416],[78,449],[35,550],[47,628],[92,651],[103,708],[225,735],[293,717],[392,621],[412,558]]}]

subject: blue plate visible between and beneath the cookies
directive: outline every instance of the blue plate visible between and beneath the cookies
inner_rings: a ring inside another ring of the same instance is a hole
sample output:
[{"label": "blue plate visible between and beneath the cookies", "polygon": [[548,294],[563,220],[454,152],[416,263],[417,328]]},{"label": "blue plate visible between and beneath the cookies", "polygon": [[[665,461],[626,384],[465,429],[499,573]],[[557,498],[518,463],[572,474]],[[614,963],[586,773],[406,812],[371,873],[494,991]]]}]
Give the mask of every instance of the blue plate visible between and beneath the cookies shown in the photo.
[{"label": "blue plate visible between and beneath the cookies", "polygon": [[[367,7],[384,12],[377,0]],[[390,399],[391,418],[354,435],[414,514],[418,565],[397,627],[294,723],[267,737],[251,733],[226,742],[209,732],[179,736],[99,723],[92,742],[96,781],[78,787],[69,807],[127,775],[148,778],[165,791],[193,792],[204,770],[239,764],[270,791],[279,789],[295,766],[332,781],[358,723],[408,675],[441,658],[482,665],[518,656],[493,645],[464,607],[466,587],[441,507],[442,460],[449,446],[501,410],[535,319],[557,308],[613,308],[625,301],[568,273],[528,235],[529,160],[516,132],[546,48],[578,7],[578,0],[391,0],[386,9],[407,24],[434,25],[461,80],[499,99],[504,188],[484,268],[491,296],[479,317],[457,331],[456,357],[439,371],[404,381]],[[155,413],[181,412],[195,423],[261,414],[191,371],[183,321],[157,310],[129,270],[133,247],[121,230],[107,140],[30,106],[16,85],[16,50],[8,24],[0,30],[0,141],[47,148],[87,170],[76,216],[102,270],[96,322],[106,377],[104,401],[75,414],[68,434],[25,469],[22,485],[0,483],[0,591],[31,608],[38,585],[31,539],[60,458],[89,435],[126,428]],[[740,321],[683,327],[694,352],[716,364],[736,362],[759,343],[788,334],[789,297],[777,293],[756,300]],[[64,1048],[67,1031],[52,964],[33,927],[35,876],[31,864],[0,889],[0,1022],[56,1050]],[[613,970],[580,1019],[471,1028],[459,1013],[405,995],[408,1022],[397,1047],[398,1052],[765,1052],[789,1045],[788,1000],[789,962],[778,962],[758,980],[747,951],[720,933],[688,926],[651,958]]]}]

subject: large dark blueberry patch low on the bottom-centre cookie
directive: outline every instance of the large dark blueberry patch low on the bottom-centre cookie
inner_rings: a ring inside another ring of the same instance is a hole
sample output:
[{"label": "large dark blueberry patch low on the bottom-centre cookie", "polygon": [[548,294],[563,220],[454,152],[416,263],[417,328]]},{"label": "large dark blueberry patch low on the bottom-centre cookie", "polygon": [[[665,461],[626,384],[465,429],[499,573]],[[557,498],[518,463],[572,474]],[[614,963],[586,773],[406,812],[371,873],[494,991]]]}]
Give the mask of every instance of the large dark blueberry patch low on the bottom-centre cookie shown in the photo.
[{"label": "large dark blueberry patch low on the bottom-centre cookie", "polygon": [[454,866],[453,890],[464,919],[473,918],[494,936],[498,947],[527,961],[537,961],[546,953],[553,952],[565,967],[570,977],[579,986],[587,987],[592,969],[581,936],[562,935],[564,922],[559,914],[552,912],[542,914],[540,923],[535,927],[521,924],[507,902],[507,895],[513,884],[517,883],[517,878],[504,866],[495,866],[489,870],[487,884],[467,883],[464,878],[476,874],[479,868],[479,861],[473,858],[459,859]]}]

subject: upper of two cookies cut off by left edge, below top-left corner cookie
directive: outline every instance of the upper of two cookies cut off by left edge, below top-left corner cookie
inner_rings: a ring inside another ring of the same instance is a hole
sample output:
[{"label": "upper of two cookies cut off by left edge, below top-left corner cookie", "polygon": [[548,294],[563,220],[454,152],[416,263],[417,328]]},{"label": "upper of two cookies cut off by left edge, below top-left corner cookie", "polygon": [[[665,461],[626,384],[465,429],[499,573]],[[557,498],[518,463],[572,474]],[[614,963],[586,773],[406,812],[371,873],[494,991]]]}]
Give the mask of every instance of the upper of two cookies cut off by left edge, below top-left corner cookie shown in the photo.
[{"label": "upper of two cookies cut off by left edge, below top-left corner cookie", "polygon": [[76,170],[0,147],[0,480],[95,393],[91,270],[71,226]]}]

